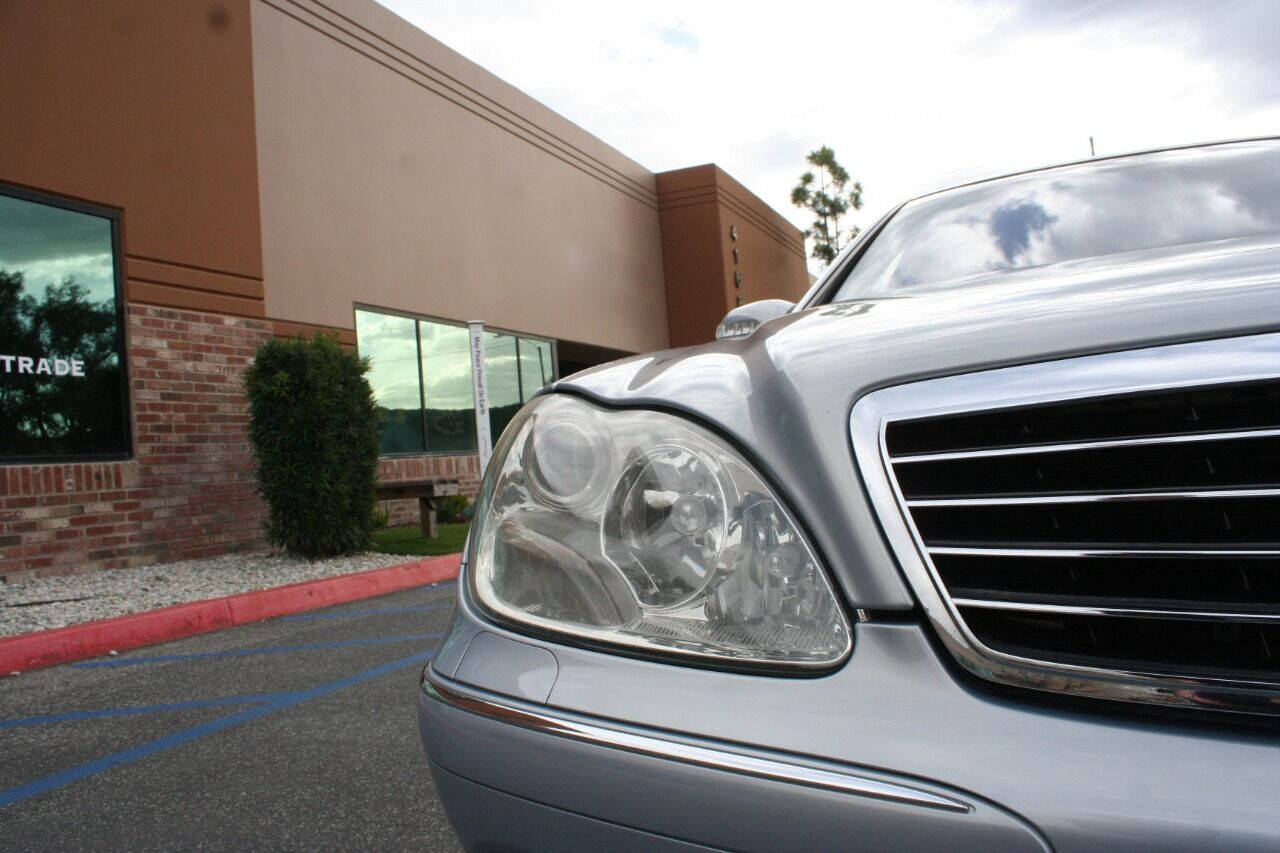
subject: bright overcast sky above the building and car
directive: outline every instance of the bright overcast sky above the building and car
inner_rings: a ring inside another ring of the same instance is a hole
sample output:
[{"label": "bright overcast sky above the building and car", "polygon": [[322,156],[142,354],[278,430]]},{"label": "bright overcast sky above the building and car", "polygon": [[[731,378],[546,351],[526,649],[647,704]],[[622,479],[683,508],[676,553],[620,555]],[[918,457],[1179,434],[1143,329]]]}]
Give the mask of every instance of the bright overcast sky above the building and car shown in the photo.
[{"label": "bright overcast sky above the building and car", "polygon": [[714,161],[797,227],[820,145],[869,224],[922,190],[1280,133],[1280,3],[381,0],[643,165]]}]

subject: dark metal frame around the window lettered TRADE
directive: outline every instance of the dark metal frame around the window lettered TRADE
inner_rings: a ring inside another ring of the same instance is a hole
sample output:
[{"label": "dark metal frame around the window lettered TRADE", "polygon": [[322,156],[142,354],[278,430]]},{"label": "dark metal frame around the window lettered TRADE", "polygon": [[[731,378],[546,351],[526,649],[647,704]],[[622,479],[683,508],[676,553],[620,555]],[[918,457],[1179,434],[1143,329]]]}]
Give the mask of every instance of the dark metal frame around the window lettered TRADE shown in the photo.
[{"label": "dark metal frame around the window lettered TRADE", "polygon": [[124,211],[120,207],[108,207],[79,199],[68,199],[41,190],[32,190],[0,181],[0,195],[32,204],[60,207],[72,213],[100,216],[111,224],[111,274],[115,279],[115,336],[116,355],[120,359],[120,437],[124,450],[111,453],[65,453],[44,456],[9,456],[0,453],[0,466],[14,465],[54,465],[63,462],[115,462],[133,459],[133,396],[129,393],[129,336],[125,321],[124,304],[124,246],[120,227]]}]

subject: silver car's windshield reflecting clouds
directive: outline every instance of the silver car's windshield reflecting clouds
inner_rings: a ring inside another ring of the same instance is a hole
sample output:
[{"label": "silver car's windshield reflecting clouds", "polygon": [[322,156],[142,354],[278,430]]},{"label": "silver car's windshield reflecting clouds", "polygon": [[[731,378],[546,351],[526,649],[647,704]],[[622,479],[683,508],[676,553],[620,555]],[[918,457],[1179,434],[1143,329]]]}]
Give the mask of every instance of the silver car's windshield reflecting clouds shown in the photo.
[{"label": "silver car's windshield reflecting clouds", "polygon": [[1004,270],[1263,234],[1280,234],[1280,143],[1084,163],[904,205],[832,301],[911,296]]}]

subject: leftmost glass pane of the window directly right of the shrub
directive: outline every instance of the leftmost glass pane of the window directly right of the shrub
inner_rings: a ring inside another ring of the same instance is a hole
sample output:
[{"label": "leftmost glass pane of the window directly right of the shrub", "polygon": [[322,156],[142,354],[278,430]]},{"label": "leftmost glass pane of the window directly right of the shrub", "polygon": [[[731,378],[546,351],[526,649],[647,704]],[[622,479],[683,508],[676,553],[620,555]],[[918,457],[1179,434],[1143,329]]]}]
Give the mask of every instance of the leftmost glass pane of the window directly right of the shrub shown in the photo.
[{"label": "leftmost glass pane of the window directly right of the shrub", "polygon": [[369,384],[383,416],[383,453],[421,453],[422,391],[417,375],[416,320],[356,311],[356,346],[369,359]]}]

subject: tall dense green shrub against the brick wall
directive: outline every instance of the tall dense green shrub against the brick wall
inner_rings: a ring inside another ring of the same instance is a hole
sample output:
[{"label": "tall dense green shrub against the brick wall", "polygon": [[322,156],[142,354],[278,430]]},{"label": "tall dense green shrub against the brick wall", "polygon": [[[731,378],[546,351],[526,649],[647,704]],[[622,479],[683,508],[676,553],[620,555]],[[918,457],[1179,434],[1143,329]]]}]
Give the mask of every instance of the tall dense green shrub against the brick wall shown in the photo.
[{"label": "tall dense green shrub against the brick wall", "polygon": [[273,544],[310,560],[370,546],[378,416],[367,370],[328,336],[259,348],[244,388]]}]

